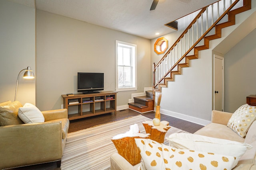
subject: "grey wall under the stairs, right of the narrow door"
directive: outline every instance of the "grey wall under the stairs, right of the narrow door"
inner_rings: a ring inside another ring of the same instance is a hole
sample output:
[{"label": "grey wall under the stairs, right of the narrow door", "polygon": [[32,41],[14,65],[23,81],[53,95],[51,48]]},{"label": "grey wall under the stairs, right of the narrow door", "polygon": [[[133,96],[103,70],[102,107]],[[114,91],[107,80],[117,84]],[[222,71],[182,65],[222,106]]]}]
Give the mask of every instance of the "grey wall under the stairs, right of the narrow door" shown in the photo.
[{"label": "grey wall under the stairs, right of the narrow door", "polygon": [[256,29],[228,53],[224,63],[224,110],[234,112],[246,104],[246,96],[256,94]]}]

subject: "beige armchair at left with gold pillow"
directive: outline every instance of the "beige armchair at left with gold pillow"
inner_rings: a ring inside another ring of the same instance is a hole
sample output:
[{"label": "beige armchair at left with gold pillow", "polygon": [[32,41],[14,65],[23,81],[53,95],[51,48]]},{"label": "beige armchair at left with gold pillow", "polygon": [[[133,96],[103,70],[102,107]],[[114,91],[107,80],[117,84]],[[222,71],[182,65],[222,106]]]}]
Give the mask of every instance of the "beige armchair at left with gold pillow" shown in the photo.
[{"label": "beige armchair at left with gold pillow", "polygon": [[60,167],[69,127],[67,109],[42,111],[43,123],[20,124],[20,105],[0,104],[0,169],[54,161]]}]

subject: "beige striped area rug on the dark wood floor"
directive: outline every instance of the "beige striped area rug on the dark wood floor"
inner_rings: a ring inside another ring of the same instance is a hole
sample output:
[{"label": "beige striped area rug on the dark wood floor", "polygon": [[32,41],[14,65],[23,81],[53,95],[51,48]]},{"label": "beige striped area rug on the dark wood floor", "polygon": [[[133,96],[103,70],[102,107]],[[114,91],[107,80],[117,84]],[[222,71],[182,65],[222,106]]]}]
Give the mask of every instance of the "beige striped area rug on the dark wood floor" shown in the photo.
[{"label": "beige striped area rug on the dark wood floor", "polygon": [[[142,121],[146,120],[152,119],[138,115],[68,133],[61,169],[110,170],[110,156],[117,152],[110,139],[115,135],[125,133],[134,123],[138,124],[140,133],[146,133],[142,125]],[[186,133],[186,131],[171,127],[166,133],[166,137],[172,133]],[[166,139],[164,144],[169,144]]]}]

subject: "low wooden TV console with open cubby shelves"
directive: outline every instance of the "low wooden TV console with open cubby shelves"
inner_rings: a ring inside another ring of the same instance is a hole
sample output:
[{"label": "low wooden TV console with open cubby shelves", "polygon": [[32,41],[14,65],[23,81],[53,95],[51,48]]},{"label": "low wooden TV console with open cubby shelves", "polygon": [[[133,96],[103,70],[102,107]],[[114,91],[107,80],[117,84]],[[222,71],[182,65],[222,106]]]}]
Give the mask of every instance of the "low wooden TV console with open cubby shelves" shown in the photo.
[{"label": "low wooden TV console with open cubby shelves", "polygon": [[116,93],[114,91],[93,94],[62,94],[64,108],[68,109],[68,119],[80,119],[114,112],[116,115]]}]

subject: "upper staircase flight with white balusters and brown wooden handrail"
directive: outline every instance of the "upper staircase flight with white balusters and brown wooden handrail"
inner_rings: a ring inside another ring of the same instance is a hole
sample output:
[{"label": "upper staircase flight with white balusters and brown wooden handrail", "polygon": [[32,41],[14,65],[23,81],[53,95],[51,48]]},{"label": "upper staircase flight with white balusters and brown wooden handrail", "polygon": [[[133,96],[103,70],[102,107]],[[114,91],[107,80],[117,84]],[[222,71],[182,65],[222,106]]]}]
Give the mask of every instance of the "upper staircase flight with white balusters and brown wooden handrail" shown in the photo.
[{"label": "upper staircase flight with white balusters and brown wooden handrail", "polygon": [[211,40],[221,38],[222,28],[236,24],[236,14],[250,9],[251,0],[220,0],[202,8],[159,63],[154,63],[153,91],[167,87],[183,67],[189,67],[190,60],[198,59],[199,51],[209,49]]}]

